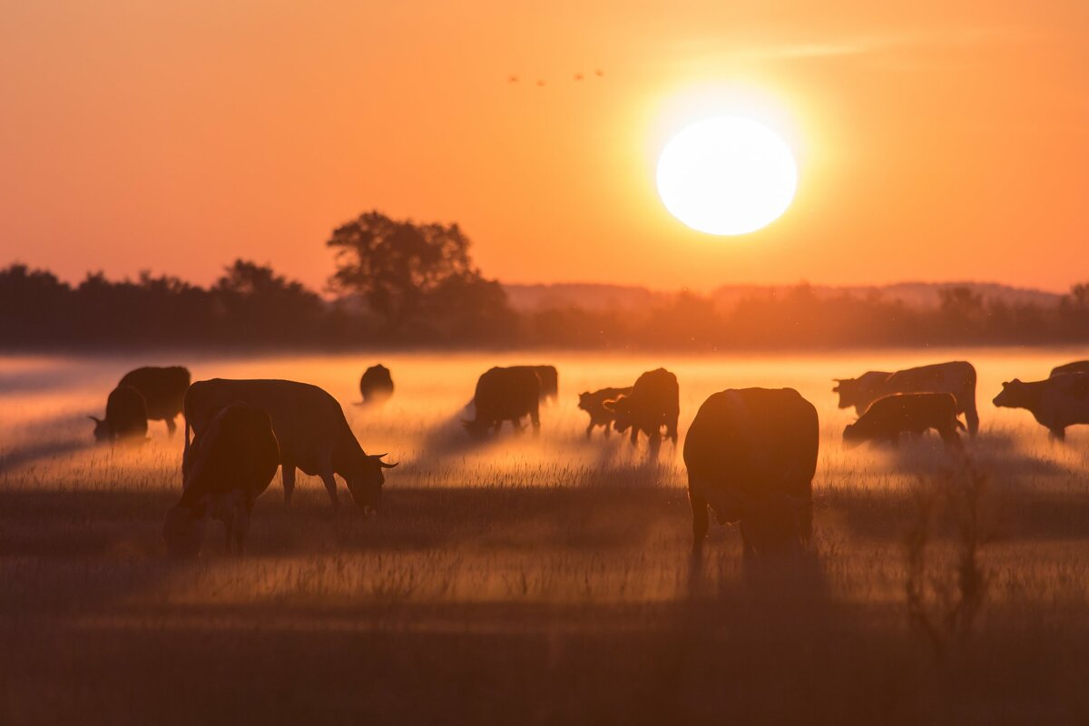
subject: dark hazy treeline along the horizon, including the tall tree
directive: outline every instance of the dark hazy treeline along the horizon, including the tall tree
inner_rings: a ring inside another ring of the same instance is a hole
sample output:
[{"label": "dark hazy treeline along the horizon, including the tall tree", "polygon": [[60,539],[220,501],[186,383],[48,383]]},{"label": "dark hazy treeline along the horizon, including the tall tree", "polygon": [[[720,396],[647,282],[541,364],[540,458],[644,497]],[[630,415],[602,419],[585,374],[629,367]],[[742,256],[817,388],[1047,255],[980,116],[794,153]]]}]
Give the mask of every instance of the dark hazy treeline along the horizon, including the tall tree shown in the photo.
[{"label": "dark hazy treeline along the horizon, including the tall tree", "polygon": [[935,308],[878,295],[744,298],[719,310],[681,293],[646,310],[511,308],[486,280],[456,224],[415,224],[378,212],[337,229],[333,299],[271,268],[236,260],[211,286],[142,274],[91,273],[73,286],[45,270],[0,270],[0,346],[358,349],[561,347],[730,350],[1089,343],[1089,284],[1057,305],[1012,305],[966,287]]}]

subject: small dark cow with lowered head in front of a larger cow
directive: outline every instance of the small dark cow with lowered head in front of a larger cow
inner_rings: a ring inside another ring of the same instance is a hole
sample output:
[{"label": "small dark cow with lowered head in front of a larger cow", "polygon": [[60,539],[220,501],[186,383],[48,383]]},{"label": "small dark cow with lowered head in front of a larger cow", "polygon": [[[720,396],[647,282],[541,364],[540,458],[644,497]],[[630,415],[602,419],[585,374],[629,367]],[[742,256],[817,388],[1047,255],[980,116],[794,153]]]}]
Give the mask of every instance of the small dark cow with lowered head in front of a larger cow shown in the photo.
[{"label": "small dark cow with lowered head in front of a larger cow", "polygon": [[900,434],[921,435],[933,429],[949,448],[960,450],[960,436],[956,430],[964,423],[956,417],[956,399],[952,393],[896,393],[878,398],[866,413],[843,430],[847,444],[858,445],[864,441],[888,441],[900,445]]}]

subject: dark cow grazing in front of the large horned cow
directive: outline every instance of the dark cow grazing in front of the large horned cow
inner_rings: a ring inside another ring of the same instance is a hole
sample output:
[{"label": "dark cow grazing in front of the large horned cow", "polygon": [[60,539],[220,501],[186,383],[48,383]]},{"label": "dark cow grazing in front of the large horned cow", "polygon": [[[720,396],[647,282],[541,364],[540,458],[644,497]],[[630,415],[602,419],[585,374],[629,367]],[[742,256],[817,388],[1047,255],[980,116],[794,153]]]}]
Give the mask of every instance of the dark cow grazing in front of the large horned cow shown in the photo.
[{"label": "dark cow grazing in front of the large horned cow", "polygon": [[213,517],[223,522],[227,552],[241,555],[254,502],[280,466],[272,419],[248,404],[221,408],[194,438],[188,454],[182,497],[167,512],[162,528],[167,554],[198,556],[205,522]]}]

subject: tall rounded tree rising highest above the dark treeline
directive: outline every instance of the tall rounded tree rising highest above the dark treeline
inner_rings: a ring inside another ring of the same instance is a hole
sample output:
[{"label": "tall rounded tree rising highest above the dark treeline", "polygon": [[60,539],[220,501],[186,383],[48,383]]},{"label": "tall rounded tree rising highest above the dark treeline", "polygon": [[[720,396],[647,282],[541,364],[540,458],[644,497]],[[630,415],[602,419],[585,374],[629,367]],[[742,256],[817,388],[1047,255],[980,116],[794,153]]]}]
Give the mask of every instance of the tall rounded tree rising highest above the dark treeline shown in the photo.
[{"label": "tall rounded tree rising highest above the dark treeline", "polygon": [[473,267],[457,224],[415,224],[372,211],[334,230],[327,245],[337,255],[330,286],[358,295],[387,334],[450,323],[444,319],[454,311],[462,328],[511,315],[502,288]]}]

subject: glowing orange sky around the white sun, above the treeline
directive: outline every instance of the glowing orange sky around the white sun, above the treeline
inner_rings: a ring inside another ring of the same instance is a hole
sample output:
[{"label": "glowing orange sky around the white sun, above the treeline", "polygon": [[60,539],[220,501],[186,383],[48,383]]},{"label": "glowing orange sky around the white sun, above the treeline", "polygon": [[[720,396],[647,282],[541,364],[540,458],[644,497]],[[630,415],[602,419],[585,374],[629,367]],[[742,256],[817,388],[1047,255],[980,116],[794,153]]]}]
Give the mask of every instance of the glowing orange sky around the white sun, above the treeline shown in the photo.
[{"label": "glowing orange sky around the white sun, above the treeline", "polygon": [[[0,262],[321,285],[379,209],[460,222],[509,282],[1089,279],[1081,0],[0,4]],[[799,161],[743,237],[654,190],[719,112]]]}]

